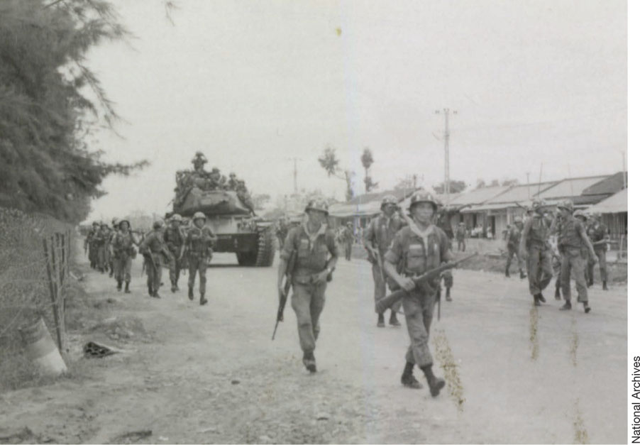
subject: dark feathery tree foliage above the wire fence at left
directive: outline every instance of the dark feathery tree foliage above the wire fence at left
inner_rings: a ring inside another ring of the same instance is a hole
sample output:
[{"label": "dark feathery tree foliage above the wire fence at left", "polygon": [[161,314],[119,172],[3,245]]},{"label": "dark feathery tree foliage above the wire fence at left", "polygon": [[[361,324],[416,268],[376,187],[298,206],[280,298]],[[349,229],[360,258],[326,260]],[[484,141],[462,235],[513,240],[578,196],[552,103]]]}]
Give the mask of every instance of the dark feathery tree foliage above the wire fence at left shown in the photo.
[{"label": "dark feathery tree foliage above the wire fence at left", "polygon": [[87,143],[118,115],[85,56],[126,35],[108,1],[0,2],[0,206],[81,221],[106,176],[147,164]]}]

